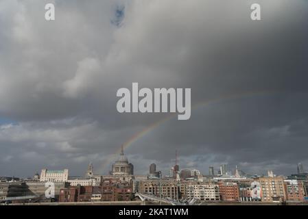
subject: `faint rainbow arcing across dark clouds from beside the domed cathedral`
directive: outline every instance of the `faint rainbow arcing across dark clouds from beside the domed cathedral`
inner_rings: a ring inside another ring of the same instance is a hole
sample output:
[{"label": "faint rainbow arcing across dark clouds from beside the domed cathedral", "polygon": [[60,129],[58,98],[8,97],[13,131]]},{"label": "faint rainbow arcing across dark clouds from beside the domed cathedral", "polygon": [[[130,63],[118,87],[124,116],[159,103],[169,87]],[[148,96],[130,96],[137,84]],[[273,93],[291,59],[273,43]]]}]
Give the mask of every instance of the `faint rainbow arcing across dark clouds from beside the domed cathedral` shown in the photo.
[{"label": "faint rainbow arcing across dark clouds from beside the domed cathedral", "polygon": [[[245,93],[240,93],[240,94],[230,94],[230,95],[227,95],[227,96],[220,96],[220,97],[217,97],[217,98],[214,98],[214,99],[209,99],[209,100],[206,100],[206,101],[200,101],[200,102],[194,104],[191,107],[191,112],[193,110],[198,109],[199,107],[209,106],[211,104],[220,103],[222,101],[228,101],[228,100],[233,100],[233,99],[242,99],[242,98],[246,98],[246,97],[255,97],[255,96],[265,96],[265,95],[268,96],[268,95],[282,94],[282,93],[283,92],[279,92],[279,91],[276,91],[276,90],[268,90],[268,91],[245,92]],[[128,148],[128,146],[131,146],[132,144],[134,144],[134,142],[137,142],[137,140],[143,138],[143,136],[147,135],[147,133],[150,133],[152,130],[156,129],[156,127],[159,127],[163,123],[167,123],[169,120],[176,118],[176,116],[178,116],[178,114],[176,114],[176,113],[169,114],[165,118],[158,120],[155,123],[152,123],[151,125],[145,127],[144,129],[142,129],[138,133],[135,133],[126,142],[124,142],[123,149]],[[112,162],[112,160],[115,159],[115,157],[120,153],[120,151],[121,151],[121,146],[119,147],[119,149],[117,149],[115,154],[110,155],[108,157],[108,159],[106,159],[106,162],[104,162],[104,164],[102,164],[102,169],[105,169]]]}]

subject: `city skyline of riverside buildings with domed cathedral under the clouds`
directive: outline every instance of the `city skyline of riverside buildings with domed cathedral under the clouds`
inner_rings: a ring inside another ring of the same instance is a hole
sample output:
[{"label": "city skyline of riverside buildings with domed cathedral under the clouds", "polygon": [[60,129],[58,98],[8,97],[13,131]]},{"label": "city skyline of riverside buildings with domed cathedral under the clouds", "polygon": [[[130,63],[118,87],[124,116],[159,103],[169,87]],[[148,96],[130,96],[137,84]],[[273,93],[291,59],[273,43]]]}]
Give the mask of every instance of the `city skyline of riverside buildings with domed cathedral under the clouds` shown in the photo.
[{"label": "city skyline of riverside buildings with domed cathedral under the clouds", "polygon": [[247,175],[235,168],[232,172],[228,164],[221,164],[215,172],[211,166],[209,175],[196,169],[180,169],[176,151],[169,175],[163,175],[156,164],[148,166],[147,175],[135,175],[134,164],[121,146],[108,175],[95,174],[91,161],[82,177],[71,176],[67,168],[43,168],[28,179],[0,176],[0,204],[110,205],[126,201],[146,205],[154,201],[171,205],[307,205],[308,172],[303,164],[298,163],[297,174],[289,176],[275,175],[272,170],[268,170],[268,175]]}]

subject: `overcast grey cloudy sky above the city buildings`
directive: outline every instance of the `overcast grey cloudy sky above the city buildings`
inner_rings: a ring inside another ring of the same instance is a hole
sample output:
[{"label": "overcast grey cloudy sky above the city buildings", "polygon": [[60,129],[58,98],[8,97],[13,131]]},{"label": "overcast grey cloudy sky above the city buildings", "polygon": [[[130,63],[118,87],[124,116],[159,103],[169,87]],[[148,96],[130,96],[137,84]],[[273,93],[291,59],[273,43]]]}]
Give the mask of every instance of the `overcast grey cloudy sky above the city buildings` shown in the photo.
[{"label": "overcast grey cloudy sky above the city buildings", "polygon": [[[84,175],[90,161],[107,174],[122,144],[140,175],[167,174],[176,151],[204,174],[308,170],[307,12],[305,0],[0,0],[0,175]],[[133,82],[191,88],[191,118],[119,114]]]}]

